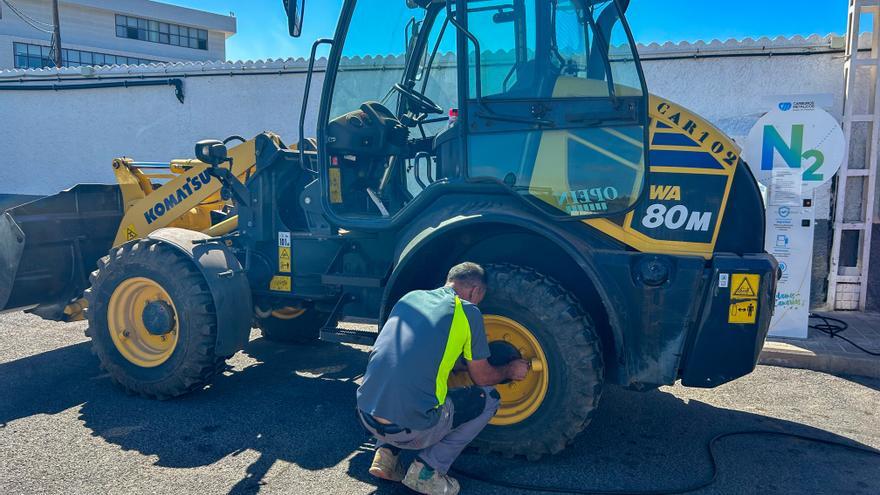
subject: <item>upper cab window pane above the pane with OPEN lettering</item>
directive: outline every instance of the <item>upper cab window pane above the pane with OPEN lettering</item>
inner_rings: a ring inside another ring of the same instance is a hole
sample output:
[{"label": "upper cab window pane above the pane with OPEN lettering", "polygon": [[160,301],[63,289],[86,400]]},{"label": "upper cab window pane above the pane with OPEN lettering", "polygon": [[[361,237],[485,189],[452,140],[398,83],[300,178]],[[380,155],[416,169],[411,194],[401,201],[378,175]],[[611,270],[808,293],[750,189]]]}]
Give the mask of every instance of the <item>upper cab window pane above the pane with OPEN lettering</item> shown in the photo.
[{"label": "upper cab window pane above the pane with OPEN lettering", "polygon": [[[471,45],[470,97],[477,87],[487,99],[640,95],[632,47],[618,20],[611,0],[471,2],[468,29],[480,40],[480,61],[477,66]],[[538,25],[549,29],[539,33]],[[538,43],[539,35],[547,42]]]}]

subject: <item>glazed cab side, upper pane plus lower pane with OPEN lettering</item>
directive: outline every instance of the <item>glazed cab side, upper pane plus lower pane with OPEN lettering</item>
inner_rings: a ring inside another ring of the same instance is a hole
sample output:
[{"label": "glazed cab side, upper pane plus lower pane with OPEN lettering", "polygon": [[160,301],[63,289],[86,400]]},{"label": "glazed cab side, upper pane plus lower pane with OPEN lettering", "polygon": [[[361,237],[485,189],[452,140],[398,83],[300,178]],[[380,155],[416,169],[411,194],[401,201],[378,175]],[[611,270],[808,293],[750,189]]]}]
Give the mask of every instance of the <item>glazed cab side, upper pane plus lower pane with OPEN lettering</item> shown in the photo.
[{"label": "glazed cab side, upper pane plus lower pane with OPEN lettering", "polygon": [[632,209],[645,189],[647,98],[618,4],[458,7],[472,35],[460,42],[469,58],[468,177],[499,181],[562,218]]}]

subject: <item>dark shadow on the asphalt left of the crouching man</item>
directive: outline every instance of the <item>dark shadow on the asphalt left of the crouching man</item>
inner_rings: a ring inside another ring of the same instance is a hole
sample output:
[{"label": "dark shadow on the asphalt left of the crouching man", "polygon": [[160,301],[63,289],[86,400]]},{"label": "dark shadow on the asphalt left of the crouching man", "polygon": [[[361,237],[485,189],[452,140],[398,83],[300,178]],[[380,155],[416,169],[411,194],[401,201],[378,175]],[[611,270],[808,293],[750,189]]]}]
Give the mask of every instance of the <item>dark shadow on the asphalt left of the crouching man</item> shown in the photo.
[{"label": "dark shadow on the asphalt left of the crouching man", "polygon": [[253,493],[277,460],[308,470],[363,448],[354,380],[367,353],[346,346],[279,346],[257,339],[257,364],[227,371],[206,390],[165,402],[127,396],[101,374],[88,344],[0,365],[0,425],[82,404],[80,419],[108,442],[190,468],[251,449],[259,459],[232,493]]}]

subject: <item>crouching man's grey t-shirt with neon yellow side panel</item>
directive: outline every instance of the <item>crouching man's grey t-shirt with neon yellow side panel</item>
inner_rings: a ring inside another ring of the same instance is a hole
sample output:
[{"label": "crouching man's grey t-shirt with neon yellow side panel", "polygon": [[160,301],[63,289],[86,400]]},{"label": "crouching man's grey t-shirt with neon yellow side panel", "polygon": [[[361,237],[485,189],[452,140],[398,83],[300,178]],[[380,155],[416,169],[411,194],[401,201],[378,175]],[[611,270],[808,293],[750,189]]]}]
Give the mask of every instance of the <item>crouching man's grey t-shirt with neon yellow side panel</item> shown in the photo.
[{"label": "crouching man's grey t-shirt with neon yellow side panel", "polygon": [[373,346],[358,408],[404,428],[429,429],[439,418],[455,362],[489,355],[475,305],[449,287],[410,292],[394,305]]}]

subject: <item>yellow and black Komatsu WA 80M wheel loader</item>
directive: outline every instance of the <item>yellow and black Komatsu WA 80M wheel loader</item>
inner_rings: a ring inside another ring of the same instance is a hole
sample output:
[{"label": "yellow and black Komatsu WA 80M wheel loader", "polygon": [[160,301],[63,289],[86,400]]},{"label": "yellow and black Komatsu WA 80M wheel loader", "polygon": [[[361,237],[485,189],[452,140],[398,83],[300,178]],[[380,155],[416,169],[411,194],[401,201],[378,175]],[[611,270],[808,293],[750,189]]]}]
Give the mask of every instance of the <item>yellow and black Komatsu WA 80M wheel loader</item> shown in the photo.
[{"label": "yellow and black Komatsu WA 80M wheel loader", "polygon": [[[778,273],[758,185],[729,138],[648,93],[628,3],[345,0],[295,145],[118,159],[116,185],[6,211],[0,308],[85,314],[112,379],[164,399],[208,383],[252,325],[369,344],[337,323],[381,323],[478,262],[493,359],[532,363],[478,446],[532,457],[580,433],[605,386],[746,375]],[[299,35],[302,4],[284,5]]]}]

